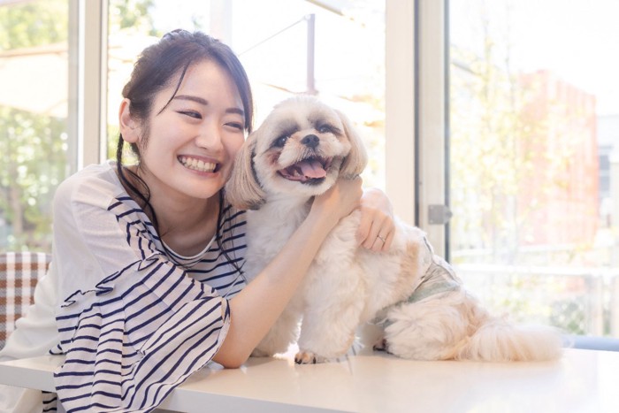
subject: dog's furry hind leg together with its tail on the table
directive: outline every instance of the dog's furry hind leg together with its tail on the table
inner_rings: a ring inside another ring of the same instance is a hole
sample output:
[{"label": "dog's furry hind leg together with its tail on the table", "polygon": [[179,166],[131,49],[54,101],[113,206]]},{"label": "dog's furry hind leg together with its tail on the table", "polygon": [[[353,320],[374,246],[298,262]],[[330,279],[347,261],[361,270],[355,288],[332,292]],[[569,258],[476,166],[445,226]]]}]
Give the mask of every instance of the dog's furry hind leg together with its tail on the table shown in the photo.
[{"label": "dog's furry hind leg together with its tail on the table", "polygon": [[385,342],[387,351],[414,360],[545,361],[563,348],[559,329],[493,317],[464,291],[394,307]]}]

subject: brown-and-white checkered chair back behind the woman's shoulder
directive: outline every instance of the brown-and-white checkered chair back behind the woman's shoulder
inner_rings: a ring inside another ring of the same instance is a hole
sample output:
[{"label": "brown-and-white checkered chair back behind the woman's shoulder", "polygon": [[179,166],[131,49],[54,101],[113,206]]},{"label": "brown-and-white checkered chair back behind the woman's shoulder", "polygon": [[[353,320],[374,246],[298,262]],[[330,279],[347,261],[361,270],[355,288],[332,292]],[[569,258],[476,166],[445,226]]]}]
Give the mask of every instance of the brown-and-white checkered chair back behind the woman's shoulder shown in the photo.
[{"label": "brown-and-white checkered chair back behind the woman's shoulder", "polygon": [[34,302],[34,287],[50,261],[51,255],[43,252],[0,253],[0,348]]}]

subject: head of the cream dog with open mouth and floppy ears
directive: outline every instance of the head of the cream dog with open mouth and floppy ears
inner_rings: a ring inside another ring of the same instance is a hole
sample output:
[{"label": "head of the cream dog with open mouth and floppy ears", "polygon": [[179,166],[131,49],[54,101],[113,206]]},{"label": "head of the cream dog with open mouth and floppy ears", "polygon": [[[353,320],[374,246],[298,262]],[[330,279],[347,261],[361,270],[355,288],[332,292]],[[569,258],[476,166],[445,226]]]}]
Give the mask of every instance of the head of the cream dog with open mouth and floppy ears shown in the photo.
[{"label": "head of the cream dog with open mouth and floppy ears", "polygon": [[340,175],[358,175],[365,164],[363,144],[348,119],[313,96],[295,96],[279,103],[248,137],[226,193],[235,206],[256,209],[266,195],[322,194]]}]

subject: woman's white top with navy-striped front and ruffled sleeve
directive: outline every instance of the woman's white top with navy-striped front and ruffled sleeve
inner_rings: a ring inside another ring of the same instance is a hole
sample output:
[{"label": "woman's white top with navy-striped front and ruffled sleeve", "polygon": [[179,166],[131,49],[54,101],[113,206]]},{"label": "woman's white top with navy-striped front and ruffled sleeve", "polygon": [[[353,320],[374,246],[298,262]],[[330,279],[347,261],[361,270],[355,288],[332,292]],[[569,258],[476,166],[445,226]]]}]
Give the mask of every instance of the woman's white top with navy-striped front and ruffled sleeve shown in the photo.
[{"label": "woman's white top with navy-striped front and ruffled sleeve", "polygon": [[62,300],[51,353],[66,355],[54,374],[62,408],[155,409],[225,338],[227,298],[245,285],[244,211],[224,205],[209,246],[180,256],[126,194],[113,162],[65,180],[54,209],[48,275]]}]

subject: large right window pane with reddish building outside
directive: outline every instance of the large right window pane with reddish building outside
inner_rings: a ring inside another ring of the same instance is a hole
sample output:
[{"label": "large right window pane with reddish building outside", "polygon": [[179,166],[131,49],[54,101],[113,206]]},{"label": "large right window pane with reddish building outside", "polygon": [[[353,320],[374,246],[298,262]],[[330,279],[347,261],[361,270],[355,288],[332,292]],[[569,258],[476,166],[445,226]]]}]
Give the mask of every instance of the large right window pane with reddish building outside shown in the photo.
[{"label": "large right window pane with reddish building outside", "polygon": [[619,335],[619,3],[449,12],[452,262],[497,311]]}]

